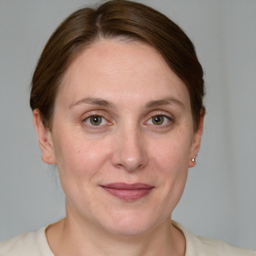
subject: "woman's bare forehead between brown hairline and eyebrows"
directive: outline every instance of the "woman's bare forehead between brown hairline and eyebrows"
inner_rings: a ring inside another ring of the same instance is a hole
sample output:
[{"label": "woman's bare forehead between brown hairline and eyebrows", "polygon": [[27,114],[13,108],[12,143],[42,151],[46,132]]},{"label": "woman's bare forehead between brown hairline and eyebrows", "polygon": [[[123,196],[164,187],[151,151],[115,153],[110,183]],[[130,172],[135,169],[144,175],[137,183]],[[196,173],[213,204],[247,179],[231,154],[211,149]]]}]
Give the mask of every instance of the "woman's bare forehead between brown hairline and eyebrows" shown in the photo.
[{"label": "woman's bare forehead between brown hairline and eyebrows", "polygon": [[78,54],[63,77],[57,98],[69,95],[68,100],[74,101],[95,93],[140,100],[171,93],[189,101],[183,81],[158,52],[142,42],[100,40]]}]

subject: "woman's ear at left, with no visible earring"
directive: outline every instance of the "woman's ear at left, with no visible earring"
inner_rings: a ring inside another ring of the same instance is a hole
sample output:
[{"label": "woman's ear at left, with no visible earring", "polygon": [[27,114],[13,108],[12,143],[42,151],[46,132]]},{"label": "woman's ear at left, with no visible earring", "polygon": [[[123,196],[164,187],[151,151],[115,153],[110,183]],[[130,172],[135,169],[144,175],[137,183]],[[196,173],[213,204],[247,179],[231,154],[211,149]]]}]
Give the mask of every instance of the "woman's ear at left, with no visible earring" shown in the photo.
[{"label": "woman's ear at left, with no visible earring", "polygon": [[54,156],[51,132],[43,125],[38,108],[33,110],[33,122],[39,147],[42,151],[42,160],[48,164],[55,164],[56,160]]}]

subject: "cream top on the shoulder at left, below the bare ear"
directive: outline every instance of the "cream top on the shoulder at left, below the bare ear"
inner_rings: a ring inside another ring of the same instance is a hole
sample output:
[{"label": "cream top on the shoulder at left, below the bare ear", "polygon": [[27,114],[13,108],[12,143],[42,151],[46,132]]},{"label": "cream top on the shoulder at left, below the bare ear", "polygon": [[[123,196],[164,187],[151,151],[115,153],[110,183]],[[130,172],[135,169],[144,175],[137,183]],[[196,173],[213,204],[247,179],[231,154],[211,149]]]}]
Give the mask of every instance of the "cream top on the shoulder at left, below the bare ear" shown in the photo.
[{"label": "cream top on the shoulder at left, below the bare ear", "polygon": [[1,242],[0,256],[53,256],[47,243],[45,228]]}]

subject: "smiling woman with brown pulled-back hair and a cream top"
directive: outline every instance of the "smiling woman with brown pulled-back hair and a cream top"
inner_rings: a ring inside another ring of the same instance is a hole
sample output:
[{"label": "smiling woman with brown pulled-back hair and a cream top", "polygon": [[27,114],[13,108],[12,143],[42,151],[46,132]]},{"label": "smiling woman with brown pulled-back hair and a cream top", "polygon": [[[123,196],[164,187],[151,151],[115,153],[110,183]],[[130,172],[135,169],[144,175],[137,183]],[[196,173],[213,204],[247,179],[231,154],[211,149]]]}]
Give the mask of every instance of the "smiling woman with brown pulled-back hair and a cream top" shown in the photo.
[{"label": "smiling woman with brown pulled-back hair and a cream top", "polygon": [[30,106],[66,217],[1,255],[255,255],[171,221],[196,163],[203,73],[184,32],[139,3],[72,13],[35,68]]}]

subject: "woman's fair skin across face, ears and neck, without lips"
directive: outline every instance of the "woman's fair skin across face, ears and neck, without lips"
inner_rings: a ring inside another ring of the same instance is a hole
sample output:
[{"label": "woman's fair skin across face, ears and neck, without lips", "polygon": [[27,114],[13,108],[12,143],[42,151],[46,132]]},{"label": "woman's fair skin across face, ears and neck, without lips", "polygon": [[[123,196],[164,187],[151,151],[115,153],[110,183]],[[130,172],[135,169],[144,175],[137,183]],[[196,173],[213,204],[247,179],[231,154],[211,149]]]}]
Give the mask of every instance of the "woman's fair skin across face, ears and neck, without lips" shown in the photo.
[{"label": "woman's fair skin across face, ears and neck, without lips", "polygon": [[[55,255],[184,255],[170,215],[195,165],[203,116],[194,132],[188,90],[152,47],[93,43],[64,75],[52,130],[38,109],[33,118],[42,160],[57,164],[66,195],[66,217],[46,229]],[[153,188],[123,200],[102,188],[114,182]]]}]

